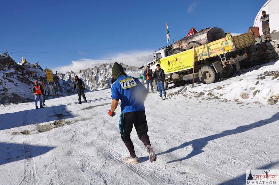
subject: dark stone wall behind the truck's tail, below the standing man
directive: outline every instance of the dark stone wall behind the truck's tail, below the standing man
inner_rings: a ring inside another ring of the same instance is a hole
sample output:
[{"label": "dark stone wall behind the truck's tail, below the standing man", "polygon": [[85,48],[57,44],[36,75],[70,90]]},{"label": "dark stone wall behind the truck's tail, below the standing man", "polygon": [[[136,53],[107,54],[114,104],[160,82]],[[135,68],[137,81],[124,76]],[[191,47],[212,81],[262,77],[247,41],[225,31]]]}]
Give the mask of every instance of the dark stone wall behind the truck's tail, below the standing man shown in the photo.
[{"label": "dark stone wall behind the truck's tail, below the standing man", "polygon": [[279,40],[258,43],[245,49],[248,58],[240,62],[241,68],[279,60]]}]

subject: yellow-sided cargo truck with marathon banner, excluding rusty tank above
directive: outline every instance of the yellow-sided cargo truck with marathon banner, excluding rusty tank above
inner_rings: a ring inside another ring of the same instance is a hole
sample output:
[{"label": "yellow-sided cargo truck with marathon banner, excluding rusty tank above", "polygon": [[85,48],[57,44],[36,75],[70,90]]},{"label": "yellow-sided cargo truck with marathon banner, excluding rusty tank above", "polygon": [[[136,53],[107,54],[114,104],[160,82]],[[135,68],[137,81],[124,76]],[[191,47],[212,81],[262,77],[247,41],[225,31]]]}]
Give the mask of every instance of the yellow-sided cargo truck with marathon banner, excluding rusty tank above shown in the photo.
[{"label": "yellow-sided cargo truck with marathon banner, excluding rusty tank above", "polygon": [[[193,78],[193,58],[195,60],[195,78],[205,84],[228,78],[239,69],[239,62],[247,58],[245,48],[255,44],[253,32],[238,36],[226,34],[225,38],[209,42],[171,55],[171,46],[161,48],[154,53],[154,63],[159,63],[165,71],[165,88],[168,83],[185,84]],[[193,56],[193,52],[195,55]],[[156,86],[156,83],[154,83]]]}]

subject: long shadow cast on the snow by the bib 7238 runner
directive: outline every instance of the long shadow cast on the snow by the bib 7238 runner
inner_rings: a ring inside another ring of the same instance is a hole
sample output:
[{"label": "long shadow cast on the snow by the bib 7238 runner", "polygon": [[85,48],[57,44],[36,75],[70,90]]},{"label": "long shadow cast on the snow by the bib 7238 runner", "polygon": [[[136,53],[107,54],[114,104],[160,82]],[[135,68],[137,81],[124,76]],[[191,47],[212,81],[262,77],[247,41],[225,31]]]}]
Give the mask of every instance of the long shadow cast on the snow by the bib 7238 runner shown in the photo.
[{"label": "long shadow cast on the snow by the bib 7238 runner", "polygon": [[[222,133],[218,133],[218,134],[214,134],[214,135],[210,135],[210,136],[206,136],[206,137],[203,137],[203,138],[194,139],[192,141],[185,142],[185,143],[183,143],[183,144],[181,144],[177,147],[173,147],[173,148],[170,148],[170,149],[168,149],[164,152],[158,153],[157,156],[162,155],[162,154],[166,154],[166,153],[171,153],[173,151],[176,151],[178,149],[185,148],[185,147],[191,145],[193,147],[193,150],[186,157],[180,158],[180,159],[177,159],[177,160],[172,160],[172,161],[169,161],[167,163],[183,161],[183,160],[189,159],[193,156],[196,156],[196,155],[204,152],[204,150],[202,150],[202,149],[208,144],[208,141],[212,141],[214,139],[218,139],[218,138],[225,137],[225,136],[228,136],[228,135],[233,135],[233,134],[238,134],[238,133],[242,133],[242,132],[245,132],[245,131],[249,131],[251,129],[261,127],[261,126],[267,125],[269,123],[275,122],[277,120],[279,120],[279,112],[276,113],[275,115],[273,115],[271,118],[268,118],[268,119],[260,120],[260,121],[257,121],[255,123],[251,123],[249,125],[239,126],[236,129],[225,130]],[[144,161],[146,161],[146,158],[140,158],[140,160],[142,162],[144,162]]]}]

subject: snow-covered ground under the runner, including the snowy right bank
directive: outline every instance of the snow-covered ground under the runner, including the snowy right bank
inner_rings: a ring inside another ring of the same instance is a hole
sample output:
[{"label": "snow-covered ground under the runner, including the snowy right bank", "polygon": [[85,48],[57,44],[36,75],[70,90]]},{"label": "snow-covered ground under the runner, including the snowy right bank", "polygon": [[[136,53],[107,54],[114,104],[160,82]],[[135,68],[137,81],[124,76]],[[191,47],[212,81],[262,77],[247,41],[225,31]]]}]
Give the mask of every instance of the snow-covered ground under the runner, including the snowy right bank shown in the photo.
[{"label": "snow-covered ground under the runner, including the snowy right bank", "polygon": [[[251,100],[249,90],[258,87],[253,85],[258,74],[277,63],[210,85],[174,87],[166,100],[157,100],[158,92],[149,94],[145,106],[154,163],[133,129],[140,163],[125,164],[129,154],[119,117],[107,114],[110,89],[87,92],[88,103],[80,105],[78,95],[49,99],[38,110],[34,102],[0,105],[0,184],[245,184],[246,169],[279,169],[279,105],[267,105],[264,97]],[[257,80],[261,88],[278,83],[266,78]],[[250,98],[238,97],[242,90]],[[192,96],[199,92],[207,93]],[[227,101],[207,98],[220,92]],[[277,95],[278,88],[269,93]],[[248,105],[237,104],[247,100]]]}]

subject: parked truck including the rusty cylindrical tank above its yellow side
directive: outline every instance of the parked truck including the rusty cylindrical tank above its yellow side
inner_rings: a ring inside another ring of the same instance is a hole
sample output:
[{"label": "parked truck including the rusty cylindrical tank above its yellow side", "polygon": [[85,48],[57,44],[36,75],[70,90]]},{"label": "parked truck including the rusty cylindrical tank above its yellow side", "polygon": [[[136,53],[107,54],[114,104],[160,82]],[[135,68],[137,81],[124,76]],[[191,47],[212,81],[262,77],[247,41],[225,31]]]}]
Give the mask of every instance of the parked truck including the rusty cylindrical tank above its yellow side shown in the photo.
[{"label": "parked truck including the rusty cylindrical tank above its yellow side", "polygon": [[[253,32],[232,36],[220,28],[206,28],[156,51],[152,70],[156,70],[155,64],[161,65],[165,71],[165,88],[169,83],[183,85],[193,78],[194,58],[194,78],[210,84],[240,69],[239,62],[247,58],[245,48],[254,44]],[[153,84],[156,88],[155,80]]]}]

